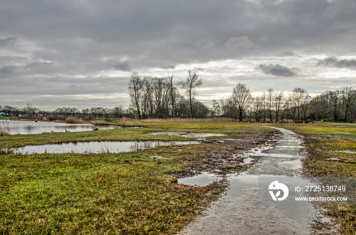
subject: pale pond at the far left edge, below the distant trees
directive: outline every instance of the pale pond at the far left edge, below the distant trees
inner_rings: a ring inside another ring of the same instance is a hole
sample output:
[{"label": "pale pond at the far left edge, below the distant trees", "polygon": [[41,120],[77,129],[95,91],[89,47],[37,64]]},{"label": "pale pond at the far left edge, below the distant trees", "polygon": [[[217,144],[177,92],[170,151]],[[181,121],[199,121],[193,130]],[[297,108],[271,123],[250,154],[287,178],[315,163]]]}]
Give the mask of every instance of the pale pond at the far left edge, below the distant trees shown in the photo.
[{"label": "pale pond at the far left edge, below the distant trees", "polygon": [[115,125],[93,125],[90,123],[61,123],[61,122],[42,122],[42,121],[17,121],[17,120],[0,120],[0,127],[10,135],[30,135],[42,134],[45,132],[74,132],[90,131],[94,129],[121,129],[121,126]]}]

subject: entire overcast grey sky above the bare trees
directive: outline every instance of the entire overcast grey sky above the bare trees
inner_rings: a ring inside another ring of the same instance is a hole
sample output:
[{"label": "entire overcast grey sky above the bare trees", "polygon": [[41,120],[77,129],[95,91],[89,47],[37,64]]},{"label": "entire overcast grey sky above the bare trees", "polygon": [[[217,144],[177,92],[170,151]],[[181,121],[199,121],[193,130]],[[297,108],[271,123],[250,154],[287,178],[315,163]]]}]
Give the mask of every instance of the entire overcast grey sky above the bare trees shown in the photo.
[{"label": "entire overcast grey sky above the bare trees", "polygon": [[188,70],[206,105],[239,82],[355,88],[356,0],[1,1],[1,105],[128,107],[132,72]]}]

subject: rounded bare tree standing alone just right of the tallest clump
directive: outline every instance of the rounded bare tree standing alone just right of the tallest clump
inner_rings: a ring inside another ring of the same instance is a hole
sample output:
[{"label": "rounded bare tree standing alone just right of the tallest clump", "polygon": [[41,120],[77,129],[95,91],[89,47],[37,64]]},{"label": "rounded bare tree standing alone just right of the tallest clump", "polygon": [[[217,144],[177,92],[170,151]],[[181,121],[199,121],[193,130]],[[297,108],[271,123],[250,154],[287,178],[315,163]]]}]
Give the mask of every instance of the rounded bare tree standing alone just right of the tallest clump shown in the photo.
[{"label": "rounded bare tree standing alone just right of the tallest clump", "polygon": [[233,100],[236,110],[238,111],[239,120],[242,121],[244,113],[253,100],[250,89],[246,87],[246,84],[239,83],[233,88],[231,99]]}]

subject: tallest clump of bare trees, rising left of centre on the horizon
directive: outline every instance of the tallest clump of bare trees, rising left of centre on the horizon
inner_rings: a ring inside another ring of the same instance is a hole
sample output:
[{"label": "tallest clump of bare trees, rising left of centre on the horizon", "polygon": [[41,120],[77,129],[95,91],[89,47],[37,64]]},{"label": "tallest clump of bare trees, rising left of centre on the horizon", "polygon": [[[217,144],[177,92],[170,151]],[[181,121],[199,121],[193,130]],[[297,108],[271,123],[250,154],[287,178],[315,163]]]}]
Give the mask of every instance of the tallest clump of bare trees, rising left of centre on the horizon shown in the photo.
[{"label": "tallest clump of bare trees, rising left of centre on the horizon", "polygon": [[189,71],[182,88],[187,98],[181,95],[174,86],[173,75],[165,78],[151,76],[141,77],[134,72],[129,81],[131,107],[136,116],[146,118],[206,118],[210,109],[195,98],[196,88],[202,79],[194,71]]}]

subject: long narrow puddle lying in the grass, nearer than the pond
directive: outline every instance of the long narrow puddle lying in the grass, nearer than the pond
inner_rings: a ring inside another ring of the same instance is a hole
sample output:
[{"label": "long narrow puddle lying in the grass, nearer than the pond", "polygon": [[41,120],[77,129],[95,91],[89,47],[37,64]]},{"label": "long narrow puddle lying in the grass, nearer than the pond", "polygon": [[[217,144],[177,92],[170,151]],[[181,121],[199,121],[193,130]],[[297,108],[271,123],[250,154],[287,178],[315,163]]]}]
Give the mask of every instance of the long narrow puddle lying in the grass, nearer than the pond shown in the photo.
[{"label": "long narrow puddle lying in the grass, nearer than the pond", "polygon": [[161,146],[199,144],[196,141],[127,141],[127,142],[77,142],[53,145],[30,145],[14,150],[15,154],[41,154],[41,153],[120,153],[136,150],[150,149]]}]

